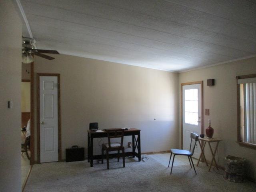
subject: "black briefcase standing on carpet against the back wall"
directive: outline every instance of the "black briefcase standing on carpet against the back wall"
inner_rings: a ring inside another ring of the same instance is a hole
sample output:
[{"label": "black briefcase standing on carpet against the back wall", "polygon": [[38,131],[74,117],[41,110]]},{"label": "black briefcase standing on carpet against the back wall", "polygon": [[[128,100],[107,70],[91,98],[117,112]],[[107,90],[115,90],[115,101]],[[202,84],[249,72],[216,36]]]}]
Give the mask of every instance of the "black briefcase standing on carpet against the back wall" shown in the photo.
[{"label": "black briefcase standing on carpet against the back wall", "polygon": [[84,161],[84,148],[79,148],[77,145],[66,149],[66,162]]}]

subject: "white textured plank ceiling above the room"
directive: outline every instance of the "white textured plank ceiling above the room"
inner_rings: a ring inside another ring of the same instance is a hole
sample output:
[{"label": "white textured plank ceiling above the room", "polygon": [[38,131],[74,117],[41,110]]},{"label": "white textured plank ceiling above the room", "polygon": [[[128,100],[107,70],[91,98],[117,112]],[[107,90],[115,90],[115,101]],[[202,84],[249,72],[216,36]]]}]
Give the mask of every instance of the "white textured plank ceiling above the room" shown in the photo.
[{"label": "white textured plank ceiling above the room", "polygon": [[37,48],[62,54],[177,72],[256,54],[254,0],[21,4]]}]

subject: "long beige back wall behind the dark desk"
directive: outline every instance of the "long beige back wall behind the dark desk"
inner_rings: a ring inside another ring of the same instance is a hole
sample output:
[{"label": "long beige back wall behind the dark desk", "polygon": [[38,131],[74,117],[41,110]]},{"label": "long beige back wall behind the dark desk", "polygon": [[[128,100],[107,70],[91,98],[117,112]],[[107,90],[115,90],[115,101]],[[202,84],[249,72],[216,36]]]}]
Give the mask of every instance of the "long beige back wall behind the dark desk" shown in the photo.
[{"label": "long beige back wall behind the dark desk", "polygon": [[[98,122],[100,129],[141,129],[142,152],[178,147],[178,74],[76,56],[52,56],[56,59],[36,56],[34,72],[60,73],[62,158],[72,145],[87,149],[90,122]],[[124,145],[131,140],[126,137]],[[100,154],[97,140],[94,146],[95,153]]]}]

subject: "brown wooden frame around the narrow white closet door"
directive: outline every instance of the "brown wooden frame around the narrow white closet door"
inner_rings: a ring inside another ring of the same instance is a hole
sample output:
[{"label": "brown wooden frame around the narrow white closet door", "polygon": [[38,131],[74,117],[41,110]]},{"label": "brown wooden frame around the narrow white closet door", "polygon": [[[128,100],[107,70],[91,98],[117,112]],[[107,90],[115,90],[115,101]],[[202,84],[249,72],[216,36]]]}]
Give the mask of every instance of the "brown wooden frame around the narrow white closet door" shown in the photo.
[{"label": "brown wooden frame around the narrow white closet door", "polygon": [[61,124],[60,124],[60,74],[36,74],[36,124],[37,124],[37,161],[40,163],[40,76],[57,76],[58,78],[58,161],[61,161]]}]

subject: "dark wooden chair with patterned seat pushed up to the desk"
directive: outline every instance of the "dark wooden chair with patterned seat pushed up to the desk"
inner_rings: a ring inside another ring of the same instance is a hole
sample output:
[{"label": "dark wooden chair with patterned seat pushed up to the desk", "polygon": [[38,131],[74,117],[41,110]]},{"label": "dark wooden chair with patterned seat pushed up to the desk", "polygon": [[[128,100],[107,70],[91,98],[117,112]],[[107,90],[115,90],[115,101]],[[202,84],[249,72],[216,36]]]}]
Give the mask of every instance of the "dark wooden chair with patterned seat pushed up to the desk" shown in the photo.
[{"label": "dark wooden chair with patterned seat pushed up to the desk", "polygon": [[[104,159],[104,150],[106,150],[106,158],[107,158],[107,168],[109,169],[109,153],[110,151],[118,151],[118,162],[120,159],[120,150],[122,150],[122,158],[123,158],[123,167],[125,167],[124,162],[124,146],[123,146],[123,140],[124,140],[124,129],[106,129],[105,130],[108,133],[108,143],[102,144],[102,160],[101,163],[103,163]],[[110,140],[113,138],[120,138],[120,142],[111,142]]]}]

